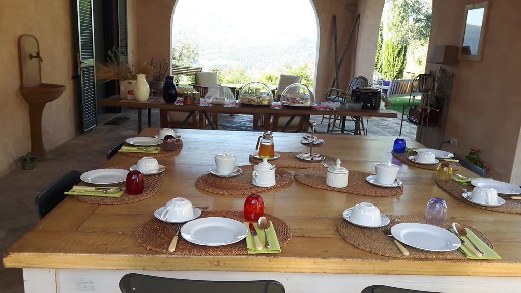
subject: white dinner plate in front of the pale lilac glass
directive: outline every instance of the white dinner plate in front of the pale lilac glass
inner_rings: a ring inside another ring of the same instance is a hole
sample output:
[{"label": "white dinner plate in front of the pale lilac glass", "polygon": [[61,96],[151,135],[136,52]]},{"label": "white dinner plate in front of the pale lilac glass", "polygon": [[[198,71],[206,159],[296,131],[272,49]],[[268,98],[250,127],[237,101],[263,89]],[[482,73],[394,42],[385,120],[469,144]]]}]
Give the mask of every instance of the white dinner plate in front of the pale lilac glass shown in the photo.
[{"label": "white dinner plate in front of the pale lilac glass", "polygon": [[461,240],[449,231],[427,224],[401,223],[391,228],[396,240],[425,251],[452,251],[461,246]]}]

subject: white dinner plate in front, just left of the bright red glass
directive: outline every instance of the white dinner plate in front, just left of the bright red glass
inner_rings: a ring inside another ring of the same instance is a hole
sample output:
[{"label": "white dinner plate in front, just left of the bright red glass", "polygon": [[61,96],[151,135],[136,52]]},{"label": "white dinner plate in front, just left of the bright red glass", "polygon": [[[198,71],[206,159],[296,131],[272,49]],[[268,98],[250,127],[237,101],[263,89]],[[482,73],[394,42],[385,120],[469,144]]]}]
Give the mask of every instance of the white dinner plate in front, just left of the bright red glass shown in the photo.
[{"label": "white dinner plate in front, just left of the bright red glass", "polygon": [[181,236],[205,246],[221,246],[241,241],[248,234],[246,226],[230,218],[207,217],[184,224]]}]

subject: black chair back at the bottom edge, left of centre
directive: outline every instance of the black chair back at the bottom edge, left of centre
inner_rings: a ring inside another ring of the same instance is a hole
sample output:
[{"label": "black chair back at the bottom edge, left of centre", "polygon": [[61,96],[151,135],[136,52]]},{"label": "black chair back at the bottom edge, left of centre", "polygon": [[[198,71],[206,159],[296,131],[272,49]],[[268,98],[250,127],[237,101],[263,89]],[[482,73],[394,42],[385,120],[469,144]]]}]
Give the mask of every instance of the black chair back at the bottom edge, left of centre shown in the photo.
[{"label": "black chair back at the bottom edge, left of centre", "polygon": [[141,274],[127,274],[119,280],[121,293],[284,293],[284,286],[275,280],[204,281],[171,279]]}]

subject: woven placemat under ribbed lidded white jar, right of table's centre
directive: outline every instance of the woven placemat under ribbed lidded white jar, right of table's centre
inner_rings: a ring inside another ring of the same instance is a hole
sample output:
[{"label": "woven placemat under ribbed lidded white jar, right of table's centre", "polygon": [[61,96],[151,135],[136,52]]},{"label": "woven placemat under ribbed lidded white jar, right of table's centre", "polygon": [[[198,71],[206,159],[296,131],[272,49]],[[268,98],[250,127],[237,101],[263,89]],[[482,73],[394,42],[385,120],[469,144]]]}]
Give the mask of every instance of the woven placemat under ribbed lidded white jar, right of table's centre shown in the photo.
[{"label": "woven placemat under ribbed lidded white jar, right of table's centre", "polygon": [[349,171],[348,186],[344,188],[334,188],[326,185],[326,174],[326,168],[309,168],[296,172],[295,179],[307,186],[357,194],[359,196],[393,197],[403,194],[403,186],[385,188],[378,187],[367,182],[365,178],[374,174]]}]

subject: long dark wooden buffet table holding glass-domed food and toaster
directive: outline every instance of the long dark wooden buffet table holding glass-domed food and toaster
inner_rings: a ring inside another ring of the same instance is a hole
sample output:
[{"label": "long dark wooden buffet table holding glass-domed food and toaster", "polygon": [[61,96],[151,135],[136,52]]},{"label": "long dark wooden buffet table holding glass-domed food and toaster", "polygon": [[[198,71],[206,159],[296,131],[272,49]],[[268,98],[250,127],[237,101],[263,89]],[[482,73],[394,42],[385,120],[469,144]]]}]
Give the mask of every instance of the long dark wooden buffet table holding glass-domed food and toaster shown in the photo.
[{"label": "long dark wooden buffet table holding glass-domed food and toaster", "polygon": [[[259,114],[264,116],[264,130],[270,130],[270,117],[273,114],[279,114],[279,115],[291,115],[293,116],[288,121],[287,125],[284,126],[282,131],[286,130],[286,128],[290,125],[291,121],[293,120],[294,116],[301,115],[305,120],[307,120],[308,115],[336,115],[336,116],[342,116],[342,130],[341,132],[344,133],[345,130],[343,129],[345,127],[345,117],[346,116],[352,116],[355,117],[355,135],[360,133],[360,117],[389,117],[389,118],[396,118],[398,115],[389,110],[372,110],[372,109],[362,109],[359,111],[352,111],[345,108],[345,105],[341,108],[337,108],[336,111],[317,111],[316,109],[311,108],[290,108],[286,107],[283,109],[271,109],[268,106],[242,106],[242,107],[225,107],[223,105],[201,105],[201,104],[191,104],[191,105],[178,105],[173,103],[161,103],[159,102],[162,100],[162,97],[151,97],[148,102],[137,102],[135,100],[126,100],[121,99],[119,95],[113,95],[111,97],[108,97],[107,99],[98,101],[99,106],[109,106],[109,107],[131,107],[138,109],[138,133],[142,131],[142,110],[147,109],[147,126],[151,127],[151,109],[166,109],[170,111],[191,111],[190,115],[187,116],[186,119],[181,123],[181,128],[184,123],[188,122],[188,120],[192,117],[192,115],[195,114],[195,112],[201,113],[204,118],[206,119],[206,122],[212,129],[218,129],[218,125],[214,123],[214,120],[216,120],[217,114],[219,113],[225,113],[225,114],[246,114],[246,115],[252,115],[252,114]],[[209,113],[209,114],[208,114]],[[214,117],[214,119],[210,118]],[[309,121],[307,120],[309,123]]]}]

